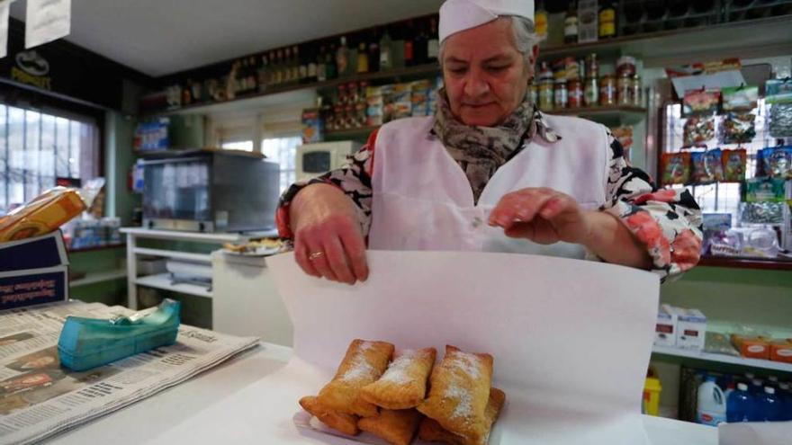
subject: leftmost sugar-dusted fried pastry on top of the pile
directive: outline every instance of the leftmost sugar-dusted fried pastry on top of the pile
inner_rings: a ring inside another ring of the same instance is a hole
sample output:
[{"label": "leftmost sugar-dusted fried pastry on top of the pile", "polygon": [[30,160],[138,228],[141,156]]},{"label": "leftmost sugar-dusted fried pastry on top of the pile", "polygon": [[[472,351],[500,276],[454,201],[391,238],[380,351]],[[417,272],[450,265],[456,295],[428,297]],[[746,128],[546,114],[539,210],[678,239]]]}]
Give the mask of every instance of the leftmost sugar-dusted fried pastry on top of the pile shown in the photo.
[{"label": "leftmost sugar-dusted fried pastry on top of the pile", "polygon": [[336,377],[321,389],[320,403],[342,414],[377,415],[377,406],[360,397],[360,389],[383,375],[392,354],[391,343],[353,340]]}]

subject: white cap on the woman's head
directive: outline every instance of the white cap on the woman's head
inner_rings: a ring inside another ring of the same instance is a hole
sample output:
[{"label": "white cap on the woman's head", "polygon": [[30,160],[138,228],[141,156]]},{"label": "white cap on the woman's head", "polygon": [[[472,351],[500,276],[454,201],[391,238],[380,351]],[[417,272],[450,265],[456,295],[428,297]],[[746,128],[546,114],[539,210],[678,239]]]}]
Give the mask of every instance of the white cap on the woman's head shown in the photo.
[{"label": "white cap on the woman's head", "polygon": [[446,0],[440,6],[440,41],[501,15],[518,15],[533,21],[534,0]]}]

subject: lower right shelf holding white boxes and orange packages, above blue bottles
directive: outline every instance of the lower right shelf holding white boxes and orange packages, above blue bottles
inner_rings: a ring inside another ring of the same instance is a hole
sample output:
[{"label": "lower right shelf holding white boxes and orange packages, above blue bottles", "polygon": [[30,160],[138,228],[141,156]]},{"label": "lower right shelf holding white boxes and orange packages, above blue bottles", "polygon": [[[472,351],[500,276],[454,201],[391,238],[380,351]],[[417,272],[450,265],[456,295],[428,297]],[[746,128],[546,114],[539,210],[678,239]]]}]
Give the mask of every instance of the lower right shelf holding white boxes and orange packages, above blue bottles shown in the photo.
[{"label": "lower right shelf holding white boxes and orange packages, above blue bottles", "polygon": [[719,331],[734,331],[724,334],[713,330],[711,324],[708,326],[707,316],[698,309],[663,304],[658,309],[652,352],[792,373],[792,338],[716,324]]}]

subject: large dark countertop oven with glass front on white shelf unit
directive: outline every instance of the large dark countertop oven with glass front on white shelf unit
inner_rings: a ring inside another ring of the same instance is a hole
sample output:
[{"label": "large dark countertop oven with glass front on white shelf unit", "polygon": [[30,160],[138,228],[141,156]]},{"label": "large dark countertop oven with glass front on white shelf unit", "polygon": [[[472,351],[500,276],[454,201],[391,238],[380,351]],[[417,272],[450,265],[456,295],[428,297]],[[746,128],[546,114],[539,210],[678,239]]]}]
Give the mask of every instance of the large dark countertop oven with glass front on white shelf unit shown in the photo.
[{"label": "large dark countertop oven with glass front on white shelf unit", "polygon": [[275,227],[280,167],[261,155],[179,150],[147,155],[143,227],[247,232]]}]

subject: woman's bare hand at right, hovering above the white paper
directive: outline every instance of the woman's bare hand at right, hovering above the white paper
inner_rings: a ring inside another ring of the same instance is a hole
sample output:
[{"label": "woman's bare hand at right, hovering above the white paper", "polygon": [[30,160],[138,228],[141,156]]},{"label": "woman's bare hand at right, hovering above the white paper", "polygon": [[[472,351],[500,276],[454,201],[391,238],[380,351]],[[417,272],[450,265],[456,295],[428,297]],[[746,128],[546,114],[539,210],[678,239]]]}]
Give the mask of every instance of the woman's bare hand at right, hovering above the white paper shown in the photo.
[{"label": "woman's bare hand at right, hovering above the white paper", "polygon": [[561,191],[528,188],[501,198],[490,214],[490,226],[503,227],[507,236],[540,245],[585,244],[592,230],[588,213]]}]

